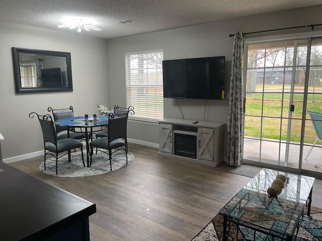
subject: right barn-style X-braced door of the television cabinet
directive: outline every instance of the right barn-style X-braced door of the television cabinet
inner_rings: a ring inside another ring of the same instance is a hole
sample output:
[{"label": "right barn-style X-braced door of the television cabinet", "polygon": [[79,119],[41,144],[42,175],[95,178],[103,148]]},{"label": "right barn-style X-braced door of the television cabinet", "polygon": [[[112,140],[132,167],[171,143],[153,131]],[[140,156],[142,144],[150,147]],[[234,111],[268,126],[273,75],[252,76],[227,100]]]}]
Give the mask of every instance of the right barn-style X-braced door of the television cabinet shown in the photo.
[{"label": "right barn-style X-braced door of the television cabinet", "polygon": [[213,129],[198,128],[197,159],[213,161]]}]

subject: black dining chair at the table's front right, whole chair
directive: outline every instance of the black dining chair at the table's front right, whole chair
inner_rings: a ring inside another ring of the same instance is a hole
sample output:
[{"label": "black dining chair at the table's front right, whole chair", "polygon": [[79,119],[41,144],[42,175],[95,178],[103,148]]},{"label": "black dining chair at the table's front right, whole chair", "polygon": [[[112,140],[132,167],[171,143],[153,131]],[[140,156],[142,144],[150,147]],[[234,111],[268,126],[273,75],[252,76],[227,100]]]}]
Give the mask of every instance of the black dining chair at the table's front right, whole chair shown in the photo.
[{"label": "black dining chair at the table's front right, whole chair", "polygon": [[[108,137],[98,138],[90,143],[91,153],[93,153],[93,148],[97,148],[98,151],[104,152],[109,155],[110,167],[112,171],[112,153],[119,151],[119,147],[124,147],[126,155],[126,165],[127,165],[127,137],[126,137],[126,125],[127,125],[127,115],[126,116],[114,116],[113,113],[109,114],[109,127]],[[102,151],[101,149],[108,150],[108,152]],[[113,150],[113,151],[112,151]],[[123,150],[123,149],[121,149]],[[90,166],[92,165],[92,157]]]}]

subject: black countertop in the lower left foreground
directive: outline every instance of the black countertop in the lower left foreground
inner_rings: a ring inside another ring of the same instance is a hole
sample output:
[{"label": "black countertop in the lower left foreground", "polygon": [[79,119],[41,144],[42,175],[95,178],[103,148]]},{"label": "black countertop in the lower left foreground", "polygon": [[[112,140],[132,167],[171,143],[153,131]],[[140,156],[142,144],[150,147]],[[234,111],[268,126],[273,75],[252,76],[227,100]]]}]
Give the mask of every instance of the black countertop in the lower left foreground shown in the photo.
[{"label": "black countertop in the lower left foreground", "polygon": [[39,240],[96,212],[96,205],[0,162],[0,239]]}]

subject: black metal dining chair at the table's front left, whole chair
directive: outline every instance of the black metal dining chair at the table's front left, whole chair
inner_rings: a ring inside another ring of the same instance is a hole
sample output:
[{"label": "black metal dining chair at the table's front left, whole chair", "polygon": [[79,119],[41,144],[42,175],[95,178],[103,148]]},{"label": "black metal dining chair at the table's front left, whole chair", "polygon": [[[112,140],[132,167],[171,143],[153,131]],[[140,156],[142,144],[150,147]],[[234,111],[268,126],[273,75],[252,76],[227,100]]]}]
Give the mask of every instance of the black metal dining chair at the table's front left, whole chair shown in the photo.
[{"label": "black metal dining chair at the table's front left, whole chair", "polygon": [[[42,130],[43,139],[44,139],[44,168],[46,169],[46,155],[48,154],[52,155],[53,157],[56,158],[56,175],[57,175],[58,159],[67,155],[68,153],[65,153],[59,157],[58,157],[58,154],[61,152],[65,152],[76,148],[79,148],[80,151],[82,152],[82,160],[83,160],[83,165],[85,167],[83,143],[70,138],[58,140],[57,134],[55,131],[55,126],[54,126],[54,123],[52,122],[51,116],[49,114],[39,115],[36,112],[31,112],[29,114],[29,117],[33,118],[35,115],[37,115],[38,117],[41,130]],[[55,155],[53,155],[53,153]]]}]

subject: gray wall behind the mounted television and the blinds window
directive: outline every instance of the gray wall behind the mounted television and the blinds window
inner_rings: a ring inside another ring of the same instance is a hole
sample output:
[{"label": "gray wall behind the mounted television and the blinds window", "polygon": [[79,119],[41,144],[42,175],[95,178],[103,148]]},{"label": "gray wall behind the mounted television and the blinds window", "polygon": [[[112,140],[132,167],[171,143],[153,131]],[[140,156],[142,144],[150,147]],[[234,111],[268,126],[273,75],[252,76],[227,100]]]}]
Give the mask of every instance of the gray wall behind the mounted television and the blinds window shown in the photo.
[{"label": "gray wall behind the mounted television and the blinds window", "polygon": [[[164,59],[226,56],[226,99],[205,100],[178,99],[185,119],[227,123],[229,78],[231,68],[233,38],[235,31],[254,32],[277,28],[320,24],[322,6],[297,10],[230,19],[186,28],[167,30],[149,34],[112,39],[108,41],[108,59],[111,102],[126,104],[124,54],[146,50],[164,50]],[[316,27],[315,30],[321,30]],[[265,34],[248,35],[260,37],[296,32],[311,31],[310,28],[276,31]],[[135,106],[134,106],[135,107]],[[182,118],[175,99],[164,99],[164,117]],[[158,129],[155,123],[128,124],[128,133],[134,140],[144,140],[147,145],[158,143]]]}]

